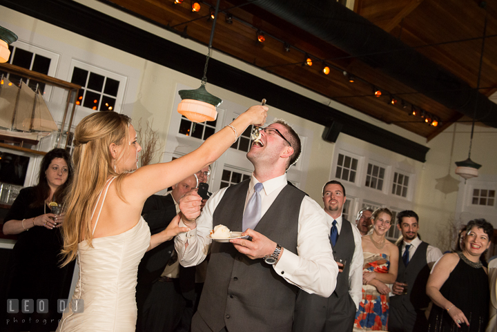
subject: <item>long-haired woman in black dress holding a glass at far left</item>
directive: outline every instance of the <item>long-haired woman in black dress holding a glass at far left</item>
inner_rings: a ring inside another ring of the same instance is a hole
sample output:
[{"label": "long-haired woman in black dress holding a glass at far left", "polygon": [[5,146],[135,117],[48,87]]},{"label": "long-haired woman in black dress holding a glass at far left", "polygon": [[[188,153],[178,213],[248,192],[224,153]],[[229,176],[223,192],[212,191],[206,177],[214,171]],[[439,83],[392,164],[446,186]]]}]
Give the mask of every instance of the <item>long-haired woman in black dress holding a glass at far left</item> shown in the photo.
[{"label": "long-haired woman in black dress holding a glass at far left", "polygon": [[[9,324],[2,331],[57,329],[61,317],[57,300],[68,298],[74,264],[59,268],[64,215],[51,213],[48,204],[64,204],[71,179],[70,155],[61,148],[51,150],[41,161],[38,184],[19,192],[3,221],[3,233],[18,235],[6,294],[8,299],[19,300],[19,312],[8,313]],[[22,299],[33,300],[34,313],[22,313]],[[37,305],[41,299],[48,303]],[[48,309],[48,313],[37,313],[37,309]]]}]

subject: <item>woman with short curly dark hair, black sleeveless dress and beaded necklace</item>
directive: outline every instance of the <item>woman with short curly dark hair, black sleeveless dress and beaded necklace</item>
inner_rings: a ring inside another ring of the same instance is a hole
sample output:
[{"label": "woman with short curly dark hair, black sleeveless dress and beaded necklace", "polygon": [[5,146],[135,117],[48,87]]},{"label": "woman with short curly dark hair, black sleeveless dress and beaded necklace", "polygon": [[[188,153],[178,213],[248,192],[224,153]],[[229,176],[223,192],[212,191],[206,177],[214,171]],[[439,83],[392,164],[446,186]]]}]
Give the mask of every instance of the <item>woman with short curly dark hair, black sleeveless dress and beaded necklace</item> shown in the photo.
[{"label": "woman with short curly dark hair, black sleeveless dress and beaded necklace", "polygon": [[429,331],[485,331],[489,313],[487,268],[480,256],[490,245],[494,227],[485,219],[467,224],[462,251],[447,253],[433,266],[427,295],[433,301]]}]

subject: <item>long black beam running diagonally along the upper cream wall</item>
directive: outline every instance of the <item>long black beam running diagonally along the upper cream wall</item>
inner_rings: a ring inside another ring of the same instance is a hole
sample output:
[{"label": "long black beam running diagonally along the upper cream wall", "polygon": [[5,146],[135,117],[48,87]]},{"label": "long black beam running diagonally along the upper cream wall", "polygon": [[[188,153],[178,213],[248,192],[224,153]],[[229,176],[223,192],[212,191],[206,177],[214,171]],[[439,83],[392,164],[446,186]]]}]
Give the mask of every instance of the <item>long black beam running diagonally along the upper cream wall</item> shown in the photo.
[{"label": "long black beam running diagonally along the upper cream wall", "polygon": [[[64,0],[0,0],[0,5],[185,75],[202,78],[205,55],[80,3]],[[215,59],[209,61],[207,77],[209,84],[215,84],[250,99],[266,98],[269,105],[317,124],[329,126],[333,121],[338,121],[343,124],[342,133],[420,162],[426,161],[429,148],[422,144],[373,126],[367,121],[342,113],[221,61]]]}]

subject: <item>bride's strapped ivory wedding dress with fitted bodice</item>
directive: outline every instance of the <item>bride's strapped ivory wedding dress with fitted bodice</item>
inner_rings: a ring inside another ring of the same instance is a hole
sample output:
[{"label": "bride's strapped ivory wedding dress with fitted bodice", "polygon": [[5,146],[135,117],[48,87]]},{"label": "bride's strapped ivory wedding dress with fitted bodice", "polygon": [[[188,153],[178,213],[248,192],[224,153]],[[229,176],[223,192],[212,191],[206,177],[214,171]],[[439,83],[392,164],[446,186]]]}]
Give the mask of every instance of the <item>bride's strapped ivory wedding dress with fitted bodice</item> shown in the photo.
[{"label": "bride's strapped ivory wedding dress with fitted bodice", "polygon": [[[113,179],[110,179],[108,186],[112,181]],[[101,207],[93,233],[100,212]],[[79,280],[72,301],[59,322],[57,332],[134,332],[137,320],[135,286],[138,264],[149,245],[150,229],[143,217],[140,217],[138,224],[124,233],[93,239],[93,247],[90,247],[86,240],[80,242],[78,244]],[[79,302],[79,308],[72,308],[74,300],[78,299],[84,300],[83,305]],[[83,311],[78,312],[81,308]],[[73,312],[73,309],[76,312]]]}]

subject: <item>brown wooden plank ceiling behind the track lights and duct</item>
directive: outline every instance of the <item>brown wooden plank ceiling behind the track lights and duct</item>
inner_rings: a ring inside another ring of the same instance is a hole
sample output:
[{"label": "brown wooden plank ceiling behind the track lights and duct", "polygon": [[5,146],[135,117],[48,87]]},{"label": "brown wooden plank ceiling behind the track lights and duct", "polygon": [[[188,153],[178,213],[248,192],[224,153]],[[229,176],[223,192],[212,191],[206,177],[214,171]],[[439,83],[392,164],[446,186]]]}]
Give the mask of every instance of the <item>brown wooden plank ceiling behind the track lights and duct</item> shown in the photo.
[{"label": "brown wooden plank ceiling behind the track lights and duct", "polygon": [[[106,2],[208,44],[213,23],[210,12],[215,0],[199,1],[199,12],[191,11],[190,0],[179,4],[174,0]],[[221,0],[213,39],[215,50],[427,139],[461,119],[461,113],[251,2]],[[355,0],[354,11],[466,81],[471,88],[477,86],[487,12],[480,92],[489,97],[497,91],[497,3],[487,2],[483,9],[478,0]],[[227,14],[233,16],[232,23],[226,22]],[[257,41],[257,30],[265,33],[264,43]],[[303,66],[306,53],[313,59],[313,66]],[[320,60],[331,65],[329,75],[322,73]],[[344,70],[356,77],[354,83],[344,76]],[[373,95],[373,86],[383,90],[382,97]],[[396,105],[389,104],[390,94],[398,100]],[[421,117],[410,115],[411,105],[434,115],[441,124],[429,126]]]}]

